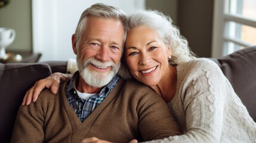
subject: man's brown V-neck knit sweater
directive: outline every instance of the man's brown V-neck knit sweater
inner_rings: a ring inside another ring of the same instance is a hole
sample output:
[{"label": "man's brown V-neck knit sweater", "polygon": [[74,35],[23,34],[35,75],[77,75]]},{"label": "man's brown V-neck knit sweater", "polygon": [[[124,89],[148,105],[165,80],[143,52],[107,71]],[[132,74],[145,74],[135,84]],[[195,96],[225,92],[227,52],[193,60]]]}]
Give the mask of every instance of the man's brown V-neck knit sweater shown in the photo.
[{"label": "man's brown V-neck knit sweater", "polygon": [[129,142],[180,134],[168,105],[141,83],[119,79],[84,122],[67,102],[65,84],[57,95],[45,89],[35,103],[20,107],[11,142],[81,142],[92,136]]}]

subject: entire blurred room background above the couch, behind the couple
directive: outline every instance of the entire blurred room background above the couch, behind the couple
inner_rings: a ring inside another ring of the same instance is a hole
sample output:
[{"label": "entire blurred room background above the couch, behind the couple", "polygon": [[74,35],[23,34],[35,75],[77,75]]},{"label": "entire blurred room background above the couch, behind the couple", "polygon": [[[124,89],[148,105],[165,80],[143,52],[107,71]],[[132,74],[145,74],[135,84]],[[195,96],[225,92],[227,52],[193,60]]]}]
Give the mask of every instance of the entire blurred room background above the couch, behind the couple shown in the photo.
[{"label": "entire blurred room background above the couch, behind the couple", "polygon": [[16,31],[6,51],[23,57],[41,53],[40,61],[75,58],[71,36],[82,11],[97,2],[128,14],[149,8],[170,15],[198,57],[218,58],[256,45],[255,0],[11,0],[0,8],[0,27]]}]

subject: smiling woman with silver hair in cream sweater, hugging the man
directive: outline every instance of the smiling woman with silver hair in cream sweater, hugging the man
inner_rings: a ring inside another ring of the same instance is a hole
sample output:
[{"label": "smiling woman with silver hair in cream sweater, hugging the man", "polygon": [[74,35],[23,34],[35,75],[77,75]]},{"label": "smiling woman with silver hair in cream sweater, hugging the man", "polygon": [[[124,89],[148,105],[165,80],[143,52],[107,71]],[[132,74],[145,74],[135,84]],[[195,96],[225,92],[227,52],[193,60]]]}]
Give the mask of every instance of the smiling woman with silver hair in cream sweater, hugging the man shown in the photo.
[{"label": "smiling woman with silver hair in cream sweater, hugging the man", "polygon": [[[129,16],[128,25],[119,74],[126,79],[132,75],[158,93],[184,133],[152,142],[256,142],[256,123],[229,80],[217,64],[194,56],[170,17],[139,11]],[[33,93],[35,101],[45,85],[53,83],[47,88],[57,92],[60,78],[67,76],[57,73],[38,82],[23,104],[29,104]],[[84,142],[95,140],[100,141]]]}]

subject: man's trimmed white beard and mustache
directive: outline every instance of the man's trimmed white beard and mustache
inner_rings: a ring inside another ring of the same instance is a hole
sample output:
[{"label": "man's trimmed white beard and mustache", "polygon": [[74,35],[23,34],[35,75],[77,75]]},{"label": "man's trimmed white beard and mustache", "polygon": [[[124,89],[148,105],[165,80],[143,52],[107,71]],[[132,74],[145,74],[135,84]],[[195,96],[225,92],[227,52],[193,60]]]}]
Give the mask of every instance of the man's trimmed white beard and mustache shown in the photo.
[{"label": "man's trimmed white beard and mustache", "polygon": [[[118,66],[116,66],[116,64],[112,61],[102,63],[101,61],[95,60],[94,58],[89,58],[84,62],[79,60],[79,57],[76,57],[76,62],[78,64],[79,74],[82,76],[85,83],[95,88],[101,88],[107,85],[107,83],[109,83],[116,75],[116,73],[118,73],[121,64],[119,62]],[[110,72],[91,71],[88,68],[89,64],[93,64],[97,67],[111,67],[111,70]]]}]

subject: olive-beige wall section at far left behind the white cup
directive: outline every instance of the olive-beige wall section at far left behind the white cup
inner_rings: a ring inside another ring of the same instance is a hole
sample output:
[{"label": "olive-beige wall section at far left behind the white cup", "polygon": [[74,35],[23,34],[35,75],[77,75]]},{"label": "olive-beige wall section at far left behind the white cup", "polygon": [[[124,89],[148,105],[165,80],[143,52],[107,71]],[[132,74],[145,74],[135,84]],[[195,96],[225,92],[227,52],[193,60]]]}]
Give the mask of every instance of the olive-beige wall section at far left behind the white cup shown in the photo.
[{"label": "olive-beige wall section at far left behind the white cup", "polygon": [[7,7],[0,9],[0,27],[16,31],[16,39],[7,51],[32,52],[31,0],[11,0]]}]

